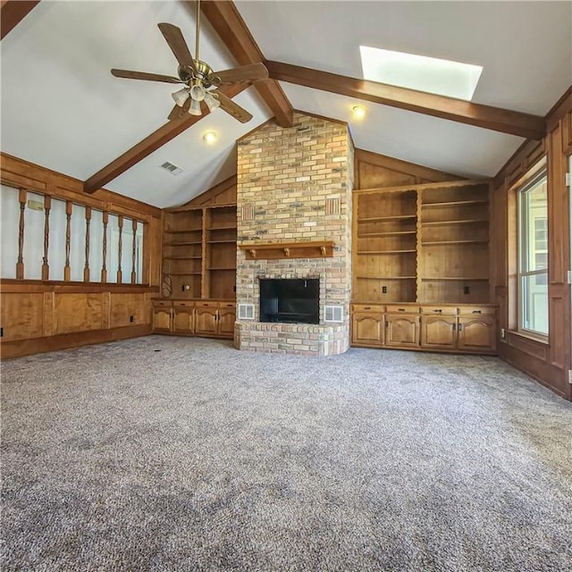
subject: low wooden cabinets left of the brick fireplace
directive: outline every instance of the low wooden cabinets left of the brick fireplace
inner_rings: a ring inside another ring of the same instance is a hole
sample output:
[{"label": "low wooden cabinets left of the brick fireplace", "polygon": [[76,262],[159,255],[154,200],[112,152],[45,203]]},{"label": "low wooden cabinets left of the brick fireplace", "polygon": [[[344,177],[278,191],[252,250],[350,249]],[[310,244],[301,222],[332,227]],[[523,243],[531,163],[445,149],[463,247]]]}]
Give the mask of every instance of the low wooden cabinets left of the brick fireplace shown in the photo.
[{"label": "low wooden cabinets left of the brick fireplace", "polygon": [[236,304],[223,300],[154,300],[154,332],[232,339]]}]

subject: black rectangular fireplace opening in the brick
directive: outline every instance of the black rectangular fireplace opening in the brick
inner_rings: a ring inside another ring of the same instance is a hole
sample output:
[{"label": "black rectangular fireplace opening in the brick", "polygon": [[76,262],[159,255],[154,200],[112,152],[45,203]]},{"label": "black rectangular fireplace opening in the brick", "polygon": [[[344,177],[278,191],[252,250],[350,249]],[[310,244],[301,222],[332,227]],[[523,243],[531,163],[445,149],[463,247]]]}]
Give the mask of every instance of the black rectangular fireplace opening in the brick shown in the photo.
[{"label": "black rectangular fireplace opening in the brick", "polygon": [[261,278],[260,321],[320,323],[319,278]]}]

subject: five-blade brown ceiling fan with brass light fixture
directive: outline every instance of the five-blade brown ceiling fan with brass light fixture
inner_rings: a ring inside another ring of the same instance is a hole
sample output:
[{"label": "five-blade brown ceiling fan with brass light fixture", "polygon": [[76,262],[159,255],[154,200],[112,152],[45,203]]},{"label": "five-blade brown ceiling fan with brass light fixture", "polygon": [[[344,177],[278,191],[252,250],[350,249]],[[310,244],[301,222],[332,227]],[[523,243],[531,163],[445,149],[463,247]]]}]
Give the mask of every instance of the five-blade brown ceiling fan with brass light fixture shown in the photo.
[{"label": "five-blade brown ceiling fan with brass light fixture", "polygon": [[[249,122],[252,115],[246,109],[235,104],[218,88],[233,83],[252,83],[265,80],[268,70],[264,63],[251,63],[230,70],[216,71],[205,62],[198,59],[198,35],[200,29],[200,0],[197,1],[197,32],[195,38],[195,54],[193,58],[189,46],[182,36],[180,28],[168,23],[157,24],[163,33],[167,44],[177,58],[179,66],[178,77],[147,73],[145,71],[116,70],[111,72],[116,78],[128,80],[162,81],[164,83],[183,84],[183,88],[175,91],[172,98],[175,106],[169,114],[170,120],[180,119],[183,114],[202,115],[201,102],[204,102],[210,112],[218,107],[242,123]],[[214,89],[212,89],[214,88]]]}]

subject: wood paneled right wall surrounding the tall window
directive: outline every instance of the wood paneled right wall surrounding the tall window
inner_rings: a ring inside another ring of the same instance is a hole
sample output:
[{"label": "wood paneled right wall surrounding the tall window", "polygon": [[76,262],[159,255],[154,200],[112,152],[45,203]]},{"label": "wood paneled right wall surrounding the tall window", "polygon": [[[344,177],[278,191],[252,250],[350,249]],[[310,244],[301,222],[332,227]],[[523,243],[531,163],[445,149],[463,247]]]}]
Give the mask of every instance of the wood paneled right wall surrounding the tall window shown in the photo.
[{"label": "wood paneled right wall surrounding the tall window", "polygon": [[[570,363],[570,210],[565,184],[572,154],[572,88],[546,117],[543,141],[527,141],[495,177],[492,224],[494,294],[499,304],[499,355],[532,375],[562,397],[572,400]],[[517,332],[517,196],[516,189],[532,175],[535,165],[548,172],[549,340]]]}]

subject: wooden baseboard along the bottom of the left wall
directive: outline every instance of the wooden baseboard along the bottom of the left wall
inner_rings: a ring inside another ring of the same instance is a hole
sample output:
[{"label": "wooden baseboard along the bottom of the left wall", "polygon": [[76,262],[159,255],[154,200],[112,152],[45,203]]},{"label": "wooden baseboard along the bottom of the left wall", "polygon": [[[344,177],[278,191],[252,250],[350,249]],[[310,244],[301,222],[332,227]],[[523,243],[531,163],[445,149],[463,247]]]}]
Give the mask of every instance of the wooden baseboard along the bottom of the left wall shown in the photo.
[{"label": "wooden baseboard along the bottom of the left wall", "polygon": [[106,341],[139,338],[140,336],[149,335],[151,330],[151,324],[138,324],[108,330],[62,333],[44,338],[33,338],[31,340],[4,341],[0,345],[0,359],[31,356],[33,354],[41,354],[46,353],[46,351],[56,351],[58,349],[79,348],[80,346],[104,343]]}]

